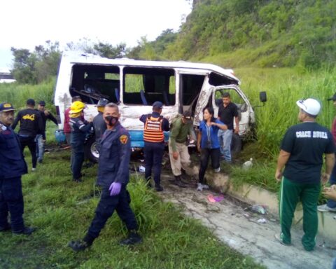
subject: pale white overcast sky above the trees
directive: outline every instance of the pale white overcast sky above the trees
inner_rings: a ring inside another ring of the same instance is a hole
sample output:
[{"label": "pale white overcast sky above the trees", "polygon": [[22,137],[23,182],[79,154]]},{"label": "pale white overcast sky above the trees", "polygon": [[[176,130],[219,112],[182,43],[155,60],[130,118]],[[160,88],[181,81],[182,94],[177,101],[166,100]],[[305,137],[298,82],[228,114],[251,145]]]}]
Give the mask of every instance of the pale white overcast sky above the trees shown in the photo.
[{"label": "pale white overcast sky above the trees", "polygon": [[45,41],[87,38],[136,46],[165,29],[178,30],[191,11],[190,0],[5,0],[1,1],[0,69],[11,63],[10,47],[34,50]]}]

